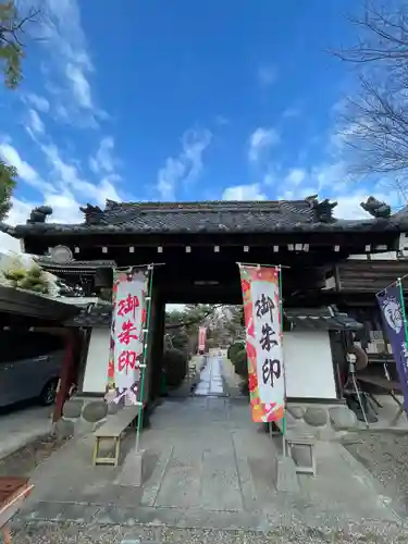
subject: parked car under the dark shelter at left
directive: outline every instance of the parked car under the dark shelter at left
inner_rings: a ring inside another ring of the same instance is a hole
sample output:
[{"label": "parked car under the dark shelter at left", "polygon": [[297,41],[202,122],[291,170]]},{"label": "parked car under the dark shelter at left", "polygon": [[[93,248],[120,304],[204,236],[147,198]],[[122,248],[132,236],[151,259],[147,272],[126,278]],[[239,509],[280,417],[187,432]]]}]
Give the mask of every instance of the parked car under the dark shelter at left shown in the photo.
[{"label": "parked car under the dark shelter at left", "polygon": [[37,332],[0,332],[0,407],[36,399],[55,400],[63,363],[63,339]]}]

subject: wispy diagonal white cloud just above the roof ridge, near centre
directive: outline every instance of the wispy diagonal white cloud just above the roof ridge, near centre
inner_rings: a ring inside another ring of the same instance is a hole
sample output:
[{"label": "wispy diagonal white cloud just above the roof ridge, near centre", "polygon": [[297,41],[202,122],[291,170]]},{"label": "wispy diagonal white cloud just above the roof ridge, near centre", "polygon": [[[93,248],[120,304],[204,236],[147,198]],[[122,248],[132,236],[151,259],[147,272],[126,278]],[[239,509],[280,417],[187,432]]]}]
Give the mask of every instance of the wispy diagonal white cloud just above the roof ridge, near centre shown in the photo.
[{"label": "wispy diagonal white cloud just above the roof ridge, near centre", "polygon": [[210,131],[186,131],[182,137],[182,152],[169,157],[159,170],[157,188],[163,200],[174,200],[177,185],[193,182],[202,170],[202,153],[210,145]]}]

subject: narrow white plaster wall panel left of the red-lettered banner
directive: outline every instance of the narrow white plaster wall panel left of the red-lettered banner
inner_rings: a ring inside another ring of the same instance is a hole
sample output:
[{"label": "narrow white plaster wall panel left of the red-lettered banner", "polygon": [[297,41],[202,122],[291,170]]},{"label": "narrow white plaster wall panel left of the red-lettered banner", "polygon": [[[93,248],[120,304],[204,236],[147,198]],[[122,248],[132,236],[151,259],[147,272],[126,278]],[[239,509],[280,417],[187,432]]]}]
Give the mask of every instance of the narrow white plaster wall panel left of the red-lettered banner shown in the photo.
[{"label": "narrow white plaster wall panel left of the red-lettered banner", "polygon": [[108,376],[110,329],[92,329],[86,360],[83,391],[104,393]]}]

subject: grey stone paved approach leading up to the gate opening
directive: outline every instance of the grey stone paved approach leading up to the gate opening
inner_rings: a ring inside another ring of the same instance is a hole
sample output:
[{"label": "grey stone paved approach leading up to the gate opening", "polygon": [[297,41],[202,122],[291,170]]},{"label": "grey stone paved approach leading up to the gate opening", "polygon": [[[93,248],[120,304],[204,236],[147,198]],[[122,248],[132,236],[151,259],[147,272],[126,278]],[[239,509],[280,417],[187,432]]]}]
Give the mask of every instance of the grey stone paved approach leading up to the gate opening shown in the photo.
[{"label": "grey stone paved approach leading up to the gate opening", "polygon": [[[119,484],[122,468],[91,467],[91,437],[73,440],[33,475],[16,523],[73,521],[197,530],[276,528],[370,531],[401,520],[368,472],[338,444],[319,443],[318,477],[298,493],[279,493],[273,444],[250,420],[247,403],[189,397],[163,403],[145,432],[144,486]],[[132,455],[134,436],[124,449]]]}]

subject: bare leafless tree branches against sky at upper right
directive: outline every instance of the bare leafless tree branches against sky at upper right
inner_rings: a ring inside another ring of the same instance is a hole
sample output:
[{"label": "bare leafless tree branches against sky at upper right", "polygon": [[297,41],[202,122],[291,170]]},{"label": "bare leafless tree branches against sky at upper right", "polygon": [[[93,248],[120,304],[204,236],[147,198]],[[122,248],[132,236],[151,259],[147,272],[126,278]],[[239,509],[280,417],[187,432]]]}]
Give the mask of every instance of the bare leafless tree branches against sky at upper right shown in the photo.
[{"label": "bare leafless tree branches against sky at upper right", "polygon": [[358,173],[406,173],[408,1],[384,0],[381,4],[369,0],[362,14],[350,17],[350,23],[358,32],[357,44],[334,54],[357,69],[356,94],[346,97],[341,113],[341,134],[351,151],[351,169]]}]

